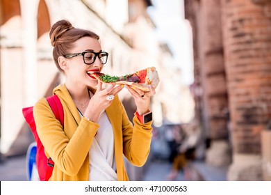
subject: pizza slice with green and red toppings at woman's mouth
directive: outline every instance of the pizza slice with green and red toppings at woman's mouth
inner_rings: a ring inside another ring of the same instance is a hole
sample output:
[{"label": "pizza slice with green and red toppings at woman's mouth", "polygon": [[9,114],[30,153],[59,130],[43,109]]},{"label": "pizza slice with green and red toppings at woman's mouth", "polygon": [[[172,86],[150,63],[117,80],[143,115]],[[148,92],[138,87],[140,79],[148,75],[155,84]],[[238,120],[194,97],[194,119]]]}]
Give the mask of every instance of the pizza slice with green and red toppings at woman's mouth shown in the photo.
[{"label": "pizza slice with green and red toppings at woman's mouth", "polygon": [[135,88],[139,88],[142,91],[149,91],[149,85],[158,86],[159,77],[155,67],[139,70],[130,75],[124,76],[110,76],[101,72],[89,72],[90,76],[95,77],[99,81],[106,84],[125,84]]}]

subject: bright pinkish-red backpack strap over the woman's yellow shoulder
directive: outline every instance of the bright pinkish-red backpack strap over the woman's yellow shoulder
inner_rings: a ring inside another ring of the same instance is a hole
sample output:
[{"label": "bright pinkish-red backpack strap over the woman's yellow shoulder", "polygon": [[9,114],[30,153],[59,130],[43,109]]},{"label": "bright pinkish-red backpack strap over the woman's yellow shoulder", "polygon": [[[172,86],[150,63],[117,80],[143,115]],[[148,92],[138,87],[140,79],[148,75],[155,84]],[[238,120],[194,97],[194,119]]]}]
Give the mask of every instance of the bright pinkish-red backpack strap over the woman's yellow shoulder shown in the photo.
[{"label": "bright pinkish-red backpack strap over the woman's yellow shoulder", "polygon": [[58,95],[48,97],[47,102],[49,103],[51,110],[54,112],[56,119],[58,119],[61,125],[64,127],[64,111]]}]

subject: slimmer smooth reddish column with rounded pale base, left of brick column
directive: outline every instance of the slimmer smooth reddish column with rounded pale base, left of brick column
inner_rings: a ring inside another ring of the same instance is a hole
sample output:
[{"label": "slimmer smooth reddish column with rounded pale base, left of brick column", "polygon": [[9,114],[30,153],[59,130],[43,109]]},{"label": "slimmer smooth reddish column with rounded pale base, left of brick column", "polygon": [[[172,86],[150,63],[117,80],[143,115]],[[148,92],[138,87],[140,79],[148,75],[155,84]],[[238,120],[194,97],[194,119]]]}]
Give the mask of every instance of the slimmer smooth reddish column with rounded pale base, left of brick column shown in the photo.
[{"label": "slimmer smooth reddish column with rounded pale base, left of brick column", "polygon": [[227,129],[227,84],[224,72],[220,1],[200,1],[198,18],[199,64],[202,77],[204,126],[211,147],[206,162],[224,166],[231,162]]}]

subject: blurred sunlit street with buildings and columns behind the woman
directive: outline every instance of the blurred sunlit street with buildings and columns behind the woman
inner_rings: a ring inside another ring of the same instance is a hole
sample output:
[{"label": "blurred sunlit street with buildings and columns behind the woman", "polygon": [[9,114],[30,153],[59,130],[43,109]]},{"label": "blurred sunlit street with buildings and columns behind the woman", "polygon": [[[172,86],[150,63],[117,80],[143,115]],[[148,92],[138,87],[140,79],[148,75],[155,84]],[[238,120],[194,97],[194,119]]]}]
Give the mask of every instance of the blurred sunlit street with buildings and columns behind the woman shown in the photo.
[{"label": "blurred sunlit street with buildings and columns behind the woman", "polygon": [[0,180],[27,180],[22,108],[65,82],[49,39],[62,19],[100,36],[104,73],[158,71],[151,153],[126,162],[130,180],[271,180],[270,0],[0,0]]}]

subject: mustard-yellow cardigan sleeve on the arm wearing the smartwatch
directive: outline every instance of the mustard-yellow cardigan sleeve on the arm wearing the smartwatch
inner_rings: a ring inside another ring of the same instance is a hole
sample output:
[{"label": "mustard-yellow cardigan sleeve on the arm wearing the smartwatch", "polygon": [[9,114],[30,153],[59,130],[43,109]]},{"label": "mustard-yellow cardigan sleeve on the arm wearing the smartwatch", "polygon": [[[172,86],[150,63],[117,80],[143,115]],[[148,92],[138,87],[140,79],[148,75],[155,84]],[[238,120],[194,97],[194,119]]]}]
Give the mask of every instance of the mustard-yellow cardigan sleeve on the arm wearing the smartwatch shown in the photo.
[{"label": "mustard-yellow cardigan sleeve on the arm wearing the smartwatch", "polygon": [[142,124],[140,120],[134,116],[132,126],[122,103],[121,109],[123,153],[134,166],[143,166],[147,161],[151,147],[152,121]]}]

